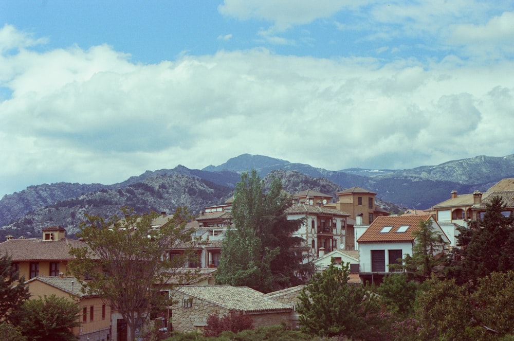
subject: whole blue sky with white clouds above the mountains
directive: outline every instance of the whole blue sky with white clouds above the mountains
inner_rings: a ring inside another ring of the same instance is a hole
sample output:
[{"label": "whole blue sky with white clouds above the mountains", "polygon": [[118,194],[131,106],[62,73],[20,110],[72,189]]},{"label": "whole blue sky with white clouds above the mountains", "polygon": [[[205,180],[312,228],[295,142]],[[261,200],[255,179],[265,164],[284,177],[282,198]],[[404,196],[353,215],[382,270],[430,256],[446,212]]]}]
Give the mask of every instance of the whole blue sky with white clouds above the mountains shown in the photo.
[{"label": "whole blue sky with white clouds above the mountains", "polygon": [[0,0],[0,198],[249,153],[514,153],[514,2]]}]

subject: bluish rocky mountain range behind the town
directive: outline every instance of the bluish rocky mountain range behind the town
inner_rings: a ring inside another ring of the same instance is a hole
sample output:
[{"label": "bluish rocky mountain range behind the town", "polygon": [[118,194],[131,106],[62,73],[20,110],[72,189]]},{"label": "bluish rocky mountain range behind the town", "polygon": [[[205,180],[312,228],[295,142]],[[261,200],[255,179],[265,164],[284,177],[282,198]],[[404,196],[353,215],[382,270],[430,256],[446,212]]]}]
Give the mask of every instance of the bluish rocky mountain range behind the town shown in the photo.
[{"label": "bluish rocky mountain range behind the town", "polygon": [[0,200],[0,240],[39,235],[50,225],[66,227],[69,234],[78,230],[86,214],[104,217],[119,213],[122,206],[136,212],[172,212],[187,206],[198,214],[206,206],[222,204],[230,198],[244,171],[255,169],[269,183],[281,178],[289,193],[313,189],[332,194],[359,186],[377,193],[380,206],[392,212],[405,208],[426,209],[450,198],[450,192],[485,191],[505,177],[514,177],[514,154],[504,157],[476,156],[449,161],[437,166],[413,169],[325,170],[307,164],[263,155],[243,154],[219,166],[204,169],[146,171],[122,183],[55,183],[29,186]]}]

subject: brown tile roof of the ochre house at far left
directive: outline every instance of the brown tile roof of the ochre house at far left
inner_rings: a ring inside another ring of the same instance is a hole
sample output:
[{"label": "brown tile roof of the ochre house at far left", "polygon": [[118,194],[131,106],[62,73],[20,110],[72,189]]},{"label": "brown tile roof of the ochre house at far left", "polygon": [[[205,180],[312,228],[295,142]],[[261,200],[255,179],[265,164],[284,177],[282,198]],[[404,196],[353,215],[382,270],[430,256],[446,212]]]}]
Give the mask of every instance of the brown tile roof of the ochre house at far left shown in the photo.
[{"label": "brown tile roof of the ochre house at far left", "polygon": [[0,252],[8,253],[13,261],[70,260],[70,246],[86,247],[87,244],[76,239],[43,241],[37,238],[11,239],[0,243]]}]

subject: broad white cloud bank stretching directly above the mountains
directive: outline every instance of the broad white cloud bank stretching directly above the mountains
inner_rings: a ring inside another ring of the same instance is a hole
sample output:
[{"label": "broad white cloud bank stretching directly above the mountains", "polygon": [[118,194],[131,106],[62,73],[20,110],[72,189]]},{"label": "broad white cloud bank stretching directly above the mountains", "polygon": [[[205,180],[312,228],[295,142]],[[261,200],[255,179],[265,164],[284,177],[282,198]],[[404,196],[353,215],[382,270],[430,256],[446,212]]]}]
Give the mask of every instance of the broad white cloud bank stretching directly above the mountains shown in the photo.
[{"label": "broad white cloud bank stretching directly above the mountains", "polygon": [[250,49],[143,65],[107,45],[0,58],[0,87],[12,91],[0,102],[2,193],[114,183],[242,153],[327,169],[407,168],[514,145],[505,129],[514,124],[510,60],[380,66]]}]

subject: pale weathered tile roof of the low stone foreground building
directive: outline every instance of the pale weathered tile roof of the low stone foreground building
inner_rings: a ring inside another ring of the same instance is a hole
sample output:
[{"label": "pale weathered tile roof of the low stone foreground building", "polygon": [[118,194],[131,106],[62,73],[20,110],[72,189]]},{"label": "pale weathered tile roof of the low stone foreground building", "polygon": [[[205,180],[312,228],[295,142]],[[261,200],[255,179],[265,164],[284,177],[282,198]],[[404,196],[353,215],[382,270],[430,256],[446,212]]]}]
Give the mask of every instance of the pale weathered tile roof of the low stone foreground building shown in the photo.
[{"label": "pale weathered tile roof of the low stone foreground building", "polygon": [[247,286],[230,285],[185,285],[178,290],[198,299],[214,303],[225,309],[245,312],[291,311],[286,304],[275,301],[265,294]]}]

